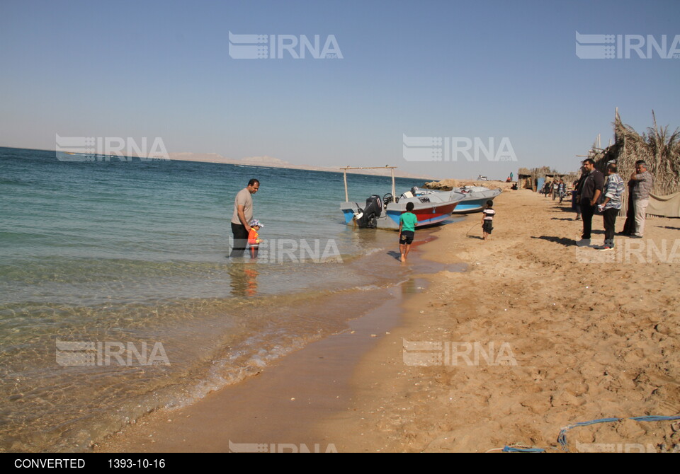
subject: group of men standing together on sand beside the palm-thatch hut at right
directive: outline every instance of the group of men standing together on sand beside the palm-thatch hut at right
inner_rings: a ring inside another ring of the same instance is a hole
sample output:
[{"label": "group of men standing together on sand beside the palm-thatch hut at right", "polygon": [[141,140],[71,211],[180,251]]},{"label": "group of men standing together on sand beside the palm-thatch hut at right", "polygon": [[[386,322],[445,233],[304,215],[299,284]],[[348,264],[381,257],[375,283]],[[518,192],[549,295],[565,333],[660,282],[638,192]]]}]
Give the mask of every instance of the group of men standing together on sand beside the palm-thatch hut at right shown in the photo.
[{"label": "group of men standing together on sand beside the palm-thatch hut at right", "polygon": [[[597,246],[598,250],[613,250],[616,216],[621,211],[621,198],[625,190],[625,183],[618,175],[616,163],[607,165],[605,177],[595,168],[595,161],[587,158],[582,163],[581,178],[576,183],[574,191],[577,208],[583,219],[583,234],[577,245],[591,246],[592,221],[595,214],[601,214],[604,220],[604,243]],[[622,235],[632,238],[642,238],[645,234],[645,216],[647,205],[650,203],[650,192],[654,185],[654,177],[650,173],[644,160],[635,162],[635,171],[630,175],[628,187],[632,197],[629,205],[628,220]]]}]

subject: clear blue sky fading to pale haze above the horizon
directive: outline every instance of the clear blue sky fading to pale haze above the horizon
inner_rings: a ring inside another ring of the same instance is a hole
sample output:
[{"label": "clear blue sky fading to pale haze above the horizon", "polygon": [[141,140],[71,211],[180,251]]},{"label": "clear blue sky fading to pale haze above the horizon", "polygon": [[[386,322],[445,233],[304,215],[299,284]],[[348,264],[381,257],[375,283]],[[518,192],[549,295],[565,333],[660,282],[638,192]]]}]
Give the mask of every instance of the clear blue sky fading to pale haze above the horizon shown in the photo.
[{"label": "clear blue sky fading to pale haze above the horizon", "polygon": [[[680,126],[680,57],[582,59],[576,33],[621,37],[617,53],[666,35],[669,52],[678,18],[677,0],[0,0],[0,146],[159,137],[169,152],[439,178],[568,172],[598,134],[608,144],[616,108],[638,132],[652,110]],[[339,54],[239,59],[229,32],[319,35]],[[423,150],[441,159],[414,161]]]}]

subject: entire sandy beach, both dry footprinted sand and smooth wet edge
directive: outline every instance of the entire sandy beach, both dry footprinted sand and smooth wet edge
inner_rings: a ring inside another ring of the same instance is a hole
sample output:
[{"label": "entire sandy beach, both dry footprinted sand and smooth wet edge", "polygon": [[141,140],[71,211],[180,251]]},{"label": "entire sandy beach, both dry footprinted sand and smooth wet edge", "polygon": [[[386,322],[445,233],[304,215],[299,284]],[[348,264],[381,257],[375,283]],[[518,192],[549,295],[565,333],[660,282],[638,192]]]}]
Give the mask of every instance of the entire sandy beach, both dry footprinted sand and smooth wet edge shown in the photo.
[{"label": "entire sandy beach, both dry footprinted sand and smooth wet edge", "polygon": [[[575,245],[567,202],[528,190],[495,202],[491,240],[480,214],[436,229],[412,251],[412,281],[344,332],[96,451],[561,451],[568,424],[679,414],[678,219],[649,219],[644,239],[603,253]],[[600,243],[600,216],[594,229]],[[672,451],[680,422],[577,427],[567,444]]]}]

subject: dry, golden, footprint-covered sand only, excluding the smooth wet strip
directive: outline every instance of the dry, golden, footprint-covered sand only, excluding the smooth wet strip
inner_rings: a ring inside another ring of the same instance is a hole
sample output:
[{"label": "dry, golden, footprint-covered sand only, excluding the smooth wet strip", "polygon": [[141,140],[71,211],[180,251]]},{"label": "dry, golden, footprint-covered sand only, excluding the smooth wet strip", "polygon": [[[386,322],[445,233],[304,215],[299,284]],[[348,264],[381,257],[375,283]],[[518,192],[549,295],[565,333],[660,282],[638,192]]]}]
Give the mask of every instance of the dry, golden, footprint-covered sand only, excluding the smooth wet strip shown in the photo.
[{"label": "dry, golden, footprint-covered sand only, excluding the smooth wet strip", "polygon": [[[560,451],[567,424],[679,414],[680,219],[648,219],[645,239],[617,236],[620,250],[603,253],[574,245],[582,222],[566,202],[520,190],[504,192],[494,209],[490,241],[480,238],[477,214],[426,246],[426,258],[462,260],[468,270],[438,273],[358,366],[356,404],[320,428],[342,427],[340,451]],[[601,244],[601,216],[593,224]],[[638,252],[664,241],[665,255]],[[407,366],[404,340],[506,342],[517,365],[450,357]],[[680,422],[594,424],[571,429],[567,443],[570,451],[672,451]]]}]

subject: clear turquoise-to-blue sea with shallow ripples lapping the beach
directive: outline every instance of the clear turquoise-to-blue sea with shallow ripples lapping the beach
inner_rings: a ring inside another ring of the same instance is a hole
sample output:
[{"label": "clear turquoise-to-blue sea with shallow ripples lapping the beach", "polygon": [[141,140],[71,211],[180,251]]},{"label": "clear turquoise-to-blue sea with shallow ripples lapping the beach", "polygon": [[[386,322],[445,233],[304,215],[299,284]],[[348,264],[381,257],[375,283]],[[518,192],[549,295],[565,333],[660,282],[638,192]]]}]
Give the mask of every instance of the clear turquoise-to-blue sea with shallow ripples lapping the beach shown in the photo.
[{"label": "clear turquoise-to-blue sea with shallow ripples lapping the beach", "polygon": [[[265,243],[230,259],[251,178]],[[391,179],[348,189],[363,203]],[[343,201],[341,173],[0,148],[0,451],[87,451],[346,330],[409,269]]]}]

